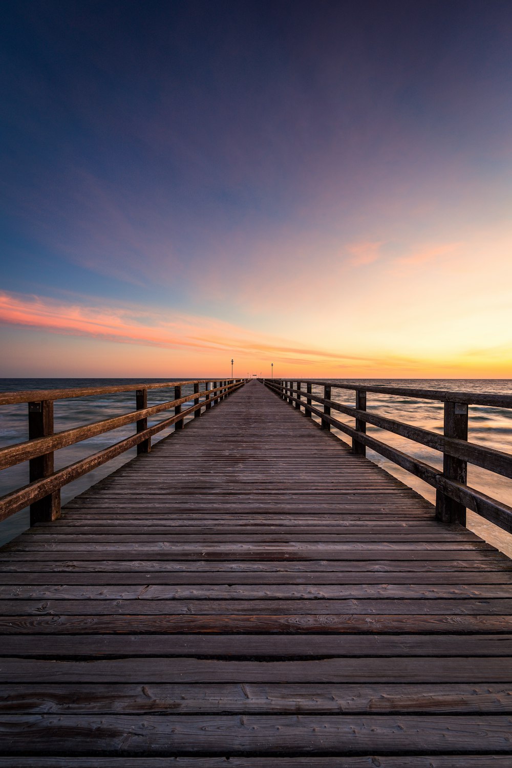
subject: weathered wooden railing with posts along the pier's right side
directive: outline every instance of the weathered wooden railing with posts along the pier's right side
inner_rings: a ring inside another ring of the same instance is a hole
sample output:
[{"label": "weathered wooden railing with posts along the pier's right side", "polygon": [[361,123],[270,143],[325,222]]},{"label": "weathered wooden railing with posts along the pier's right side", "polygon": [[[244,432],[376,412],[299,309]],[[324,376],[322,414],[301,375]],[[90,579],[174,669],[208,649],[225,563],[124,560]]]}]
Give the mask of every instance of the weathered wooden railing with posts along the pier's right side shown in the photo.
[{"label": "weathered wooden railing with posts along the pier's right side", "polygon": [[[263,379],[263,382],[282,399],[295,405],[296,409],[303,408],[307,416],[318,416],[321,420],[322,429],[330,429],[333,426],[349,435],[352,438],[352,451],[354,453],[364,456],[366,447],[368,447],[436,488],[436,516],[441,521],[465,525],[466,508],[469,508],[494,525],[503,528],[504,531],[512,532],[512,507],[467,485],[468,463],[512,478],[512,455],[485,448],[483,445],[477,445],[477,443],[467,440],[467,406],[512,408],[512,395],[447,392],[392,386],[358,387],[349,382],[313,381],[310,379]],[[323,397],[312,392],[313,386],[323,388]],[[355,408],[335,402],[332,399],[332,389],[354,391]],[[395,419],[388,419],[375,413],[368,413],[366,410],[367,392],[443,402],[444,435],[398,422]],[[315,407],[313,403],[319,403],[322,408]],[[352,428],[339,419],[335,419],[332,416],[332,411],[352,416],[355,419],[355,427]],[[442,471],[391,447],[391,445],[387,445],[382,440],[367,435],[367,424],[372,424],[388,432],[394,432],[395,435],[401,435],[401,437],[441,451],[443,454]]]}]

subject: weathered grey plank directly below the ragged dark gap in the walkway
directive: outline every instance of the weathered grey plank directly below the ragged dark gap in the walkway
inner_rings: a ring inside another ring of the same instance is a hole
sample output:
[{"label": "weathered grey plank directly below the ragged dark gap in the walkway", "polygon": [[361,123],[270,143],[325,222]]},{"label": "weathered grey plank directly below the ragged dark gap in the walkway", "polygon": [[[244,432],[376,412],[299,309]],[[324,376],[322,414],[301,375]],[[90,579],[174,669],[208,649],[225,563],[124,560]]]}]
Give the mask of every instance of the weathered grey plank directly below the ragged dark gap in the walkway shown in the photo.
[{"label": "weathered grey plank directly below the ragged dark gap in the walkway", "polygon": [[[241,641],[242,642],[242,641]],[[500,683],[512,657],[388,657],[220,660],[129,657],[87,661],[5,657],[2,683]]]}]

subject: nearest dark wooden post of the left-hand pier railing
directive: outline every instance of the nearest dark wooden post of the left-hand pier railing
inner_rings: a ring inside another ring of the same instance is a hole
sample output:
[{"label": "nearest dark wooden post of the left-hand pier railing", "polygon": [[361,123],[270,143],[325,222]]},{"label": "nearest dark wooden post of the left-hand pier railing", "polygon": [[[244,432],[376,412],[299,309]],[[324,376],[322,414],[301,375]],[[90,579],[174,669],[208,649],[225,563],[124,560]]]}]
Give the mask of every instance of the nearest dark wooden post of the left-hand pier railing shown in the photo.
[{"label": "nearest dark wooden post of the left-hand pier railing", "polygon": [[[53,435],[53,400],[28,403],[28,439]],[[53,451],[28,462],[30,482],[48,478],[54,471]],[[61,491],[48,494],[30,505],[30,525],[50,522],[61,516]]]}]

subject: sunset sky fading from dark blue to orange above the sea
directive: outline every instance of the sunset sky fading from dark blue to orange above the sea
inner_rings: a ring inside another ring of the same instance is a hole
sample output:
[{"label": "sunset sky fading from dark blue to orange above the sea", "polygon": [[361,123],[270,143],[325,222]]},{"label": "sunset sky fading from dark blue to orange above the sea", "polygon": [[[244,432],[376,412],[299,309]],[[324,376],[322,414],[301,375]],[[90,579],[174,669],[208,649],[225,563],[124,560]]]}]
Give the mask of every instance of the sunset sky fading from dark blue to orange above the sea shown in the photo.
[{"label": "sunset sky fading from dark blue to orange above the sea", "polygon": [[0,375],[512,378],[510,0],[4,0],[0,38]]}]

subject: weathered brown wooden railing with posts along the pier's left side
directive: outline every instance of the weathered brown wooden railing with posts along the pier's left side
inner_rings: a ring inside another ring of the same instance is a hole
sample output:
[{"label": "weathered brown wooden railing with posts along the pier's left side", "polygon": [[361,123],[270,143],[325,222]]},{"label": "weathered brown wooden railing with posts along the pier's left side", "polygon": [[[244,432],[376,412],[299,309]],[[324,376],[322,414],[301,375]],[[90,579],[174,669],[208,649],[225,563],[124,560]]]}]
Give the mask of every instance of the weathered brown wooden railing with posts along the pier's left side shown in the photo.
[{"label": "weathered brown wooden railing with posts along the pier's left side", "polygon": [[[79,387],[77,389],[38,389],[25,392],[3,392],[0,394],[0,406],[28,403],[28,440],[0,449],[0,469],[12,467],[20,462],[29,462],[29,483],[0,498],[0,520],[14,515],[15,512],[30,505],[31,525],[40,521],[55,520],[61,513],[61,488],[82,475],[91,472],[105,462],[137,446],[137,453],[148,453],[151,438],[163,429],[175,425],[174,429],[183,429],[187,416],[195,418],[201,410],[209,410],[231,392],[246,383],[246,379],[223,379],[212,382],[211,379],[195,381],[141,383],[129,386]],[[193,386],[193,393],[183,396],[183,386]],[[148,389],[174,389],[174,399],[147,407]],[[107,395],[115,392],[135,392],[135,410],[111,419],[87,424],[63,432],[54,432],[55,400],[94,395]],[[186,402],[193,400],[193,406],[182,410]],[[148,427],[147,419],[157,413],[173,409],[173,415]],[[130,423],[136,423],[134,435],[116,442],[93,455],[68,465],[58,472],[54,471],[54,452],[74,445],[112,429],[118,429]]]}]

